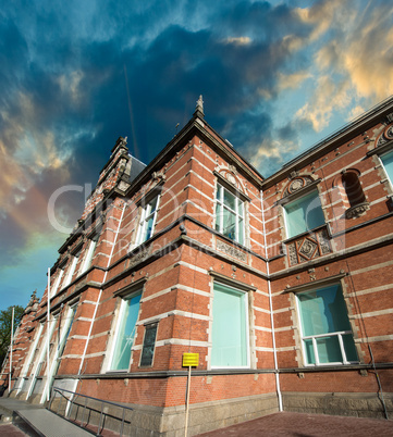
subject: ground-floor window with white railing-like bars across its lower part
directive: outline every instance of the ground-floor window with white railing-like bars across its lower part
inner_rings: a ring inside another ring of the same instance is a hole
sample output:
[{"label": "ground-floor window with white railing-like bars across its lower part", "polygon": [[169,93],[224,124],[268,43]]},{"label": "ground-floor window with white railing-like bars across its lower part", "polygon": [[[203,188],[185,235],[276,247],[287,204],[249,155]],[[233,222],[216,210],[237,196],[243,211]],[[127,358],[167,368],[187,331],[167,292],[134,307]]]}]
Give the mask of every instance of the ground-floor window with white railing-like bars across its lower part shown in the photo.
[{"label": "ground-floor window with white railing-like bars across its lower part", "polygon": [[297,304],[306,364],[349,364],[358,361],[339,285],[298,294]]}]

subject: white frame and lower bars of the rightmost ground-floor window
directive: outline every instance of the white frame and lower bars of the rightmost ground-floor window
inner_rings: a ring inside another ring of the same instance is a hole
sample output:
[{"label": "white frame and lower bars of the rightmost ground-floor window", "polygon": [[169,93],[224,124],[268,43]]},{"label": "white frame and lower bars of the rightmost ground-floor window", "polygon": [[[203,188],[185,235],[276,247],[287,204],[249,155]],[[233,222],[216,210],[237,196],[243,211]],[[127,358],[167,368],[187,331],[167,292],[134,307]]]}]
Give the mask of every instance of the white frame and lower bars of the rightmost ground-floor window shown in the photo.
[{"label": "white frame and lower bars of the rightmost ground-floor window", "polygon": [[[334,284],[332,284],[334,285]],[[352,336],[354,336],[353,330],[337,330],[334,333],[327,333],[327,334],[317,334],[317,335],[311,335],[311,336],[305,336],[304,332],[303,332],[303,324],[302,324],[302,316],[300,316],[300,302],[299,302],[299,296],[303,294],[307,294],[307,292],[311,292],[311,291],[317,291],[319,289],[323,289],[326,287],[321,286],[321,287],[316,287],[315,289],[310,289],[310,290],[305,290],[305,291],[300,291],[296,294],[296,310],[297,310],[297,324],[299,327],[299,334],[300,334],[300,342],[302,342],[302,357],[303,357],[303,363],[305,365],[305,367],[317,367],[317,366],[330,366],[330,365],[348,365],[348,364],[357,364],[359,361],[348,361],[346,358],[346,352],[345,352],[345,347],[344,347],[344,341],[343,341],[343,335],[348,335],[351,334]],[[342,292],[342,287],[340,287],[340,292]],[[336,362],[328,362],[328,363],[321,363],[319,361],[319,352],[318,352],[318,347],[317,347],[317,339],[318,338],[323,338],[323,337],[337,337],[339,339],[339,345],[340,345],[340,351],[343,358],[343,361],[336,361]],[[316,363],[308,363],[307,360],[307,353],[305,350],[305,345],[304,345],[304,340],[309,340],[311,339],[312,341],[312,350],[314,350],[314,357],[316,360]]]}]

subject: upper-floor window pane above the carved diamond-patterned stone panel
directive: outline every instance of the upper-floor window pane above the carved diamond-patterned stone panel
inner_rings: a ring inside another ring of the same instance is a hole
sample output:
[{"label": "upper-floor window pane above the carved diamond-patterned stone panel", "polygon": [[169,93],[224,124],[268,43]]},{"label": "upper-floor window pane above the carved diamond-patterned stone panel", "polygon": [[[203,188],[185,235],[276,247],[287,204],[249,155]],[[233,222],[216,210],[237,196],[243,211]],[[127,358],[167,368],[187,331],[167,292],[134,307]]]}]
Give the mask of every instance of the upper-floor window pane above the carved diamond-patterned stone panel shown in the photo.
[{"label": "upper-floor window pane above the carved diamond-patterned stone panel", "polygon": [[324,224],[318,191],[311,191],[285,205],[287,238],[295,237]]}]

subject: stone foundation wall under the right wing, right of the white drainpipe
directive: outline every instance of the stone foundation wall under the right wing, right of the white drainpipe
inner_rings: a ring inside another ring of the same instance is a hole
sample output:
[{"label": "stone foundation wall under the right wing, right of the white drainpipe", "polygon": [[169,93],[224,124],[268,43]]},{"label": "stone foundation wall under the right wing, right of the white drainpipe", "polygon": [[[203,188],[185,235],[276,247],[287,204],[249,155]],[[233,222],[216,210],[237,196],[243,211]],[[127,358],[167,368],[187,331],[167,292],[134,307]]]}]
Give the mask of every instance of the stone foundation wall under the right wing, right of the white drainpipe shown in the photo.
[{"label": "stone foundation wall under the right wing, right of the white drainpipe", "polygon": [[[385,419],[378,394],[353,392],[283,392],[284,411]],[[393,414],[393,394],[383,395],[390,417]]]}]

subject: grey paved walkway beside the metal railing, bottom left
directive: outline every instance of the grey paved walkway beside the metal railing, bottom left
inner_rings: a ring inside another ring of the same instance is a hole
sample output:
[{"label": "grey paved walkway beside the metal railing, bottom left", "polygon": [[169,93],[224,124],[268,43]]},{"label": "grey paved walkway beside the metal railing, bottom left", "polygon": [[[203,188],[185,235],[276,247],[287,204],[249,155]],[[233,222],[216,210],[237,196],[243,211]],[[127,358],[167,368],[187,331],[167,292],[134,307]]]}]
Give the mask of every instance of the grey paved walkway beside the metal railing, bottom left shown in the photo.
[{"label": "grey paved walkway beside the metal railing, bottom left", "polygon": [[30,404],[14,398],[0,398],[0,414],[2,422],[22,420],[39,436],[91,437],[87,430],[58,416],[42,405]]}]

